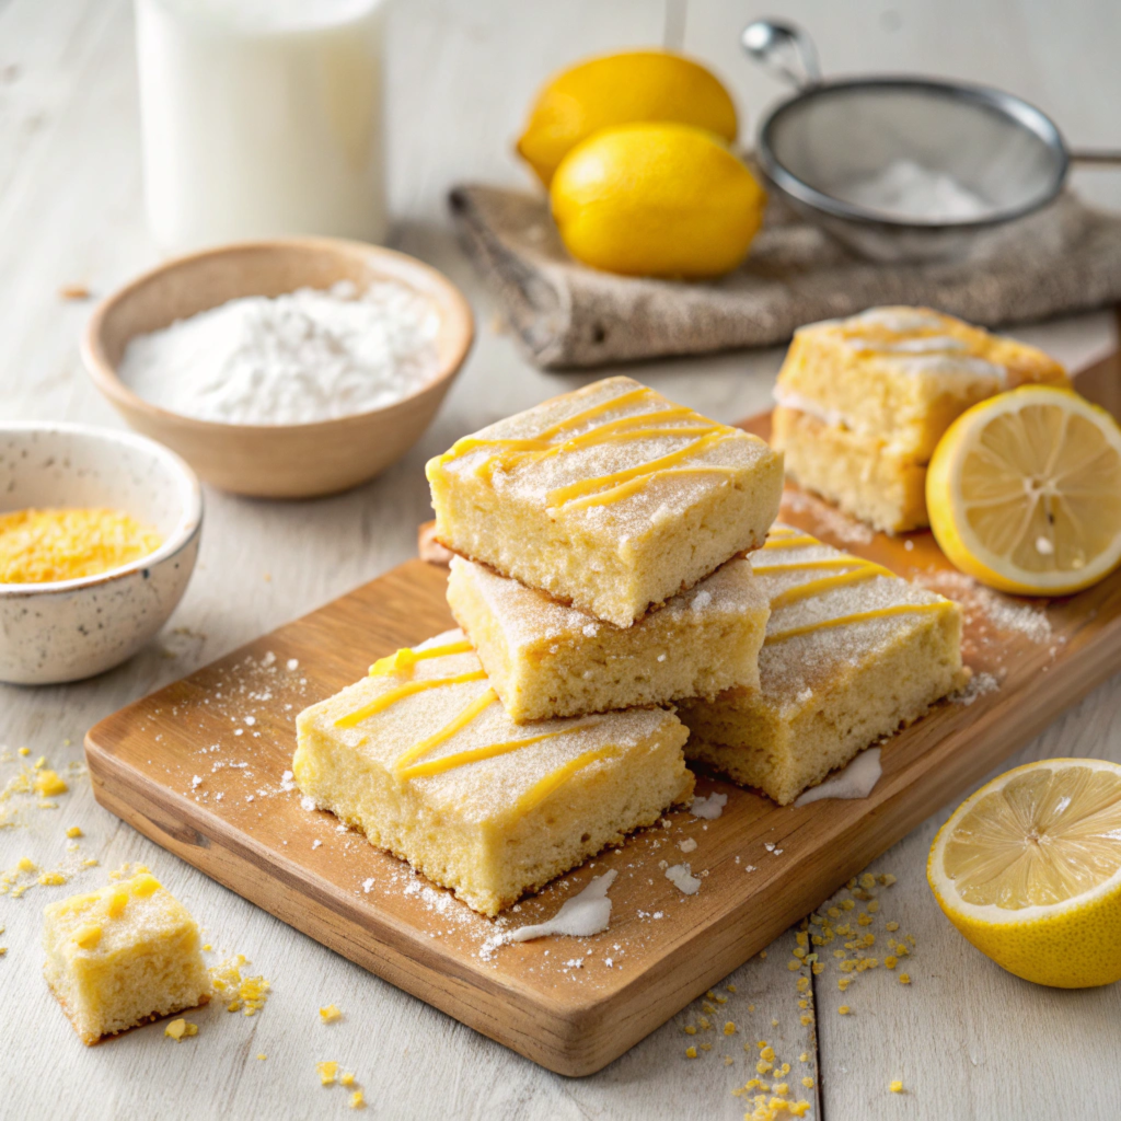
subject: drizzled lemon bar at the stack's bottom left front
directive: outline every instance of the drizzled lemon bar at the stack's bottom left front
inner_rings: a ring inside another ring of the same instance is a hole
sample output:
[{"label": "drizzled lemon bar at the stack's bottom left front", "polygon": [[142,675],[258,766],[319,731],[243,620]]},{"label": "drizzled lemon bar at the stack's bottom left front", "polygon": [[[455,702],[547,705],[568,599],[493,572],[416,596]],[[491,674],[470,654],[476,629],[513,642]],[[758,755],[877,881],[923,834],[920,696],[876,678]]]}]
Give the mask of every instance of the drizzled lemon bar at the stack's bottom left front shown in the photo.
[{"label": "drizzled lemon bar at the stack's bottom left front", "polygon": [[296,729],[305,795],[484,915],[693,793],[675,715],[519,726],[462,631],[382,658]]}]

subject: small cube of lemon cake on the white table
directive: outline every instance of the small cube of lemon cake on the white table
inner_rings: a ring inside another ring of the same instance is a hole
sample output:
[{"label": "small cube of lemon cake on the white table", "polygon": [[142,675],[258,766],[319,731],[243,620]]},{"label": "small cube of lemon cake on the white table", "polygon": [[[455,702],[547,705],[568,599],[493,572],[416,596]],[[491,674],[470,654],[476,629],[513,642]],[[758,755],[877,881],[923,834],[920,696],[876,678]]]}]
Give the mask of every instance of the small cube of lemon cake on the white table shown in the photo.
[{"label": "small cube of lemon cake on the white table", "polygon": [[44,908],[44,973],[82,1043],[205,1004],[198,927],[141,872]]}]

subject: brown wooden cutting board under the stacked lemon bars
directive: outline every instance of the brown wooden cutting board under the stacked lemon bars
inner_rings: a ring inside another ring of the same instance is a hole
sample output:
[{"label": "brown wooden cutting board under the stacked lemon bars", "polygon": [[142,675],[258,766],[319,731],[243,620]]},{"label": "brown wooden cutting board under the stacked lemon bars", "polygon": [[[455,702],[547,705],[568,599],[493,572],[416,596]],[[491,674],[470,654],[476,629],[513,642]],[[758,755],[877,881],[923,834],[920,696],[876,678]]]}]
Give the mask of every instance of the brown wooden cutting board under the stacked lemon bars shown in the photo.
[{"label": "brown wooden cutting board under the stacked lemon bars", "polygon": [[[1117,406],[1115,359],[1080,389]],[[1112,396],[1112,399],[1110,397]],[[766,435],[767,417],[745,427]],[[103,720],[86,736],[98,800],[157,844],[325,946],[543,1066],[605,1066],[767,946],[1063,710],[1121,669],[1121,573],[1044,605],[956,574],[929,534],[873,535],[789,491],[782,517],[963,602],[971,703],[943,702],[883,745],[883,777],[860,802],[779,808],[725,791],[717,821],[660,827],[549,884],[508,912],[540,921],[609,868],[610,929],[489,951],[495,926],[360,835],[307,810],[285,781],[294,719],[370,663],[452,626],[443,568],[410,560],[221,661]],[[999,687],[995,687],[998,686]],[[668,823],[668,824],[667,824]],[[677,843],[704,878],[686,897],[665,878]],[[501,920],[500,920],[501,921]]]}]

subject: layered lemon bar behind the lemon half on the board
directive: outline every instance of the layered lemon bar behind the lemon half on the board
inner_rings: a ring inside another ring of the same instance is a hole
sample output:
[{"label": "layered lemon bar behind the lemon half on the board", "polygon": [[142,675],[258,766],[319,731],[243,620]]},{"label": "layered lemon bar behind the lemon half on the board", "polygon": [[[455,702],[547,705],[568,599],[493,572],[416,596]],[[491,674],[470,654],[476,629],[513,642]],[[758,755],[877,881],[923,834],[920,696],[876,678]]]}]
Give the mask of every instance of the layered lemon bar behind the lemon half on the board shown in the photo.
[{"label": "layered lemon bar behind the lemon half on the board", "polygon": [[929,525],[926,469],[967,408],[1027,382],[1067,385],[1054,359],[925,307],[877,307],[799,330],[775,388],[787,474],[878,529]]}]

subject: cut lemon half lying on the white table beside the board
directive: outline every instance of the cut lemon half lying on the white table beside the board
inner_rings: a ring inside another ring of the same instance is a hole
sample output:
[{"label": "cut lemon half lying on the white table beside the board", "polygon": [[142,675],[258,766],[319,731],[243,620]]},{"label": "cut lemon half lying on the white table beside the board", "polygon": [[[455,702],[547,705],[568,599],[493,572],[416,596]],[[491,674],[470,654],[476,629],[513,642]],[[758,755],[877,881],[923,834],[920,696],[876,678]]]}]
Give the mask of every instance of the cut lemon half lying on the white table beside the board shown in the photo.
[{"label": "cut lemon half lying on the white table beside the board", "polygon": [[1047,759],[954,810],[927,879],[981,953],[1038,984],[1121,979],[1121,766]]}]

